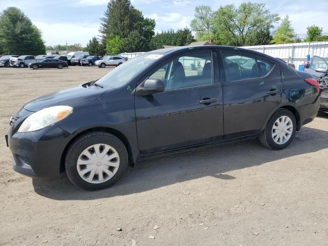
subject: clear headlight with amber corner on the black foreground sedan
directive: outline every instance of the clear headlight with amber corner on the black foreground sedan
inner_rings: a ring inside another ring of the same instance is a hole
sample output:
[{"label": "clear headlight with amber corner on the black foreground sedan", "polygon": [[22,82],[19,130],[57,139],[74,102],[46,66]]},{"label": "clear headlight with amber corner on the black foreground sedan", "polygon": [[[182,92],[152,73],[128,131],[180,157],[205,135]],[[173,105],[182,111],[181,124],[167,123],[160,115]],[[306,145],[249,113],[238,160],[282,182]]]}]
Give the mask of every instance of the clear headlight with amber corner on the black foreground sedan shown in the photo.
[{"label": "clear headlight with amber corner on the black foreground sedan", "polygon": [[27,117],[20,125],[18,132],[32,132],[48,127],[66,118],[73,108],[70,106],[54,106],[37,111]]}]

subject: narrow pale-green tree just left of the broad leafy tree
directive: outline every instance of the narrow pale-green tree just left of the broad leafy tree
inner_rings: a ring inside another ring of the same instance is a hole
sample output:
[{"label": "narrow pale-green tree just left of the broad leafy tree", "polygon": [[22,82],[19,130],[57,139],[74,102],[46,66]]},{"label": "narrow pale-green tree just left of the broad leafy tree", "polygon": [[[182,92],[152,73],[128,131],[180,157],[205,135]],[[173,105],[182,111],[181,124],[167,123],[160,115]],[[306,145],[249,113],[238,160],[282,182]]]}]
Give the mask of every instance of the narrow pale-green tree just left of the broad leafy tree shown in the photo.
[{"label": "narrow pale-green tree just left of the broad leafy tree", "polygon": [[196,32],[196,39],[198,41],[210,40],[213,37],[212,8],[207,5],[196,6],[190,27]]}]

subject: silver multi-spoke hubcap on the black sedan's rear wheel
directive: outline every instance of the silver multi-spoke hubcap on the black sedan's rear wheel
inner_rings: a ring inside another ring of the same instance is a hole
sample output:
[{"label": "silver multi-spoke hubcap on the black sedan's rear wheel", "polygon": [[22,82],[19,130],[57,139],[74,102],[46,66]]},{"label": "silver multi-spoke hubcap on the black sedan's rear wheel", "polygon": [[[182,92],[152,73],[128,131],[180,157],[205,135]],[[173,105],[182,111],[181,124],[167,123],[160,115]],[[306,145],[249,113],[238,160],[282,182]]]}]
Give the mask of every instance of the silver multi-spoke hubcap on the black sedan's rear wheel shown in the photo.
[{"label": "silver multi-spoke hubcap on the black sedan's rear wheel", "polygon": [[278,145],[285,144],[292,136],[293,121],[288,116],[280,116],[272,127],[272,138]]}]

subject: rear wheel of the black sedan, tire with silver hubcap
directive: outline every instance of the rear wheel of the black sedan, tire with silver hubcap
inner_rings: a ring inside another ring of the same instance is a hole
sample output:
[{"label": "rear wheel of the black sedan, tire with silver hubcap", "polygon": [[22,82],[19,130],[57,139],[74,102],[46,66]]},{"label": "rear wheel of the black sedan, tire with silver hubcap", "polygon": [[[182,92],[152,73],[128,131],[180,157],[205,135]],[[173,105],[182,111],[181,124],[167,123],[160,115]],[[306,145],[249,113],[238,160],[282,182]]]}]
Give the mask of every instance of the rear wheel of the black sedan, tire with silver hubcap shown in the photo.
[{"label": "rear wheel of the black sedan, tire with silver hubcap", "polygon": [[[280,129],[279,122],[282,122],[281,120],[286,122],[287,125],[282,124]],[[280,109],[271,116],[267,126],[261,132],[259,136],[260,142],[266,148],[282,150],[293,141],[296,127],[294,114],[289,110]]]}]

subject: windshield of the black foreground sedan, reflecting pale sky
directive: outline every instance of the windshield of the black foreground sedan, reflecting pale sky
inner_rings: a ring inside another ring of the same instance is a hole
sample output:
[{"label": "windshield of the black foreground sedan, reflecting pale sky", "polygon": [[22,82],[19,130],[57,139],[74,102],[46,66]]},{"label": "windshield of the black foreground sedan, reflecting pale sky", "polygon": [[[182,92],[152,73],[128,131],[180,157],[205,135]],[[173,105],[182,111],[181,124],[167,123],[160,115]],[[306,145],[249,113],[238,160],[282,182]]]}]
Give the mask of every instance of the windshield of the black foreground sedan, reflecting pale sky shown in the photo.
[{"label": "windshield of the black foreground sedan, reflecting pale sky", "polygon": [[128,60],[126,63],[115,68],[97,80],[97,84],[118,88],[128,83],[140,71],[149,67],[155,60],[162,57],[162,54],[144,54]]}]

